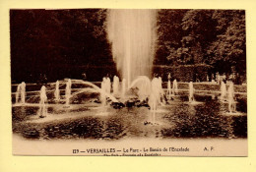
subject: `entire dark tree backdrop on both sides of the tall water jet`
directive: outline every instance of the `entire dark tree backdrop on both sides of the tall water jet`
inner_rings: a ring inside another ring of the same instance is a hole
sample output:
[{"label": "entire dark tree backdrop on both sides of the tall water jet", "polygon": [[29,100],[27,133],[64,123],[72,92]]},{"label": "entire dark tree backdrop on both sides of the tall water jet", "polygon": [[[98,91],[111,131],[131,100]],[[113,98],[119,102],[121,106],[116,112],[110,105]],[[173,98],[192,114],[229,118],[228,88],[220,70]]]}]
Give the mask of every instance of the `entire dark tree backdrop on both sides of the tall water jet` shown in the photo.
[{"label": "entire dark tree backdrop on both sides of the tall water jet", "polygon": [[[115,73],[106,17],[106,9],[11,10],[12,79],[54,81],[89,69],[100,80]],[[244,11],[159,10],[157,33],[156,65],[207,64],[213,73],[246,74]],[[102,66],[111,68],[98,72]]]}]

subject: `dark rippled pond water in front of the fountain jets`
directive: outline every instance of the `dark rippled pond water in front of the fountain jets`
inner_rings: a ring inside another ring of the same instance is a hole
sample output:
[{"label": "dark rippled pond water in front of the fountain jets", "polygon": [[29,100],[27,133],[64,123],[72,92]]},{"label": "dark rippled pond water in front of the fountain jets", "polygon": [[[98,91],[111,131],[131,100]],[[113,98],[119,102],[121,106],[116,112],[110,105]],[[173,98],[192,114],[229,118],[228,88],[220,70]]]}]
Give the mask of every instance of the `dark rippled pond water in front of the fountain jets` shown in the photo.
[{"label": "dark rippled pond water in front of the fountain jets", "polygon": [[[247,138],[246,99],[237,99],[237,113],[211,96],[197,95],[201,103],[189,104],[187,96],[160,106],[156,124],[148,107],[49,106],[38,119],[36,106],[13,106],[13,133],[27,139],[122,140],[127,138]],[[73,106],[73,105],[71,105]],[[45,120],[50,118],[52,120]],[[56,118],[54,118],[56,117]],[[60,117],[60,118],[57,118]],[[41,120],[41,121],[40,121]]]}]

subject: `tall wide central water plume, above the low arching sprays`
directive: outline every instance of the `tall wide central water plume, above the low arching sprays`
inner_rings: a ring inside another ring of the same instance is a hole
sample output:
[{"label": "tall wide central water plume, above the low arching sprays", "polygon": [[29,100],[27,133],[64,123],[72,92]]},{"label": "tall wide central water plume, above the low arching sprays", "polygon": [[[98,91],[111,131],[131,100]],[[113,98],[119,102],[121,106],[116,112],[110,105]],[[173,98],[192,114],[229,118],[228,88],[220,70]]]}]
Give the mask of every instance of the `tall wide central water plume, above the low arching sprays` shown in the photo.
[{"label": "tall wide central water plume, above the low arching sprays", "polygon": [[156,10],[109,10],[108,39],[117,70],[128,87],[138,76],[152,75]]}]

